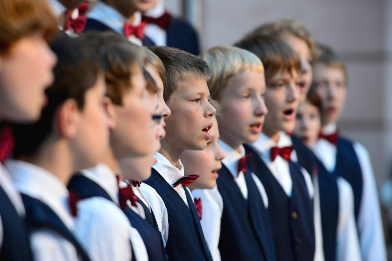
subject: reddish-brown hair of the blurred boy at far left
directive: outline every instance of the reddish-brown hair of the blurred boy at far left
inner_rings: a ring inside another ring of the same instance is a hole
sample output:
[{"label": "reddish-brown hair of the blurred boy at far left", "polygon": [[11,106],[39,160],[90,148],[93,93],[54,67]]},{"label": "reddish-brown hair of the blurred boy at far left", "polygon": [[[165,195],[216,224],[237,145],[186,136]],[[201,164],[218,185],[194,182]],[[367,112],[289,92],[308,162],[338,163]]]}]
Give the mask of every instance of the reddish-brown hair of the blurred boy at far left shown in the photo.
[{"label": "reddish-brown hair of the blurred boy at far left", "polygon": [[25,36],[42,33],[49,41],[56,32],[57,21],[45,0],[0,0],[0,54]]}]

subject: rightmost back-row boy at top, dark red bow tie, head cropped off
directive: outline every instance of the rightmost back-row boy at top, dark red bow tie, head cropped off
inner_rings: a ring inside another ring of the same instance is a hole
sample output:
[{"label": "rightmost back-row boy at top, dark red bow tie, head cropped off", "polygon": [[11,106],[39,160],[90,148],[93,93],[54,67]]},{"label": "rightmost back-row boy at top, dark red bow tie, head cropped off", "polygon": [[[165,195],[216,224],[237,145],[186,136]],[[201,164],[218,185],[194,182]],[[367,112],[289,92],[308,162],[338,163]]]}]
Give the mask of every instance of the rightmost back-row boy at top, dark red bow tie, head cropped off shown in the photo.
[{"label": "rightmost back-row boy at top, dark red bow tie, head cropped off", "polygon": [[142,16],[142,21],[147,22],[145,34],[154,45],[174,47],[198,55],[199,41],[192,25],[168,13],[164,0],[154,1],[155,5]]}]

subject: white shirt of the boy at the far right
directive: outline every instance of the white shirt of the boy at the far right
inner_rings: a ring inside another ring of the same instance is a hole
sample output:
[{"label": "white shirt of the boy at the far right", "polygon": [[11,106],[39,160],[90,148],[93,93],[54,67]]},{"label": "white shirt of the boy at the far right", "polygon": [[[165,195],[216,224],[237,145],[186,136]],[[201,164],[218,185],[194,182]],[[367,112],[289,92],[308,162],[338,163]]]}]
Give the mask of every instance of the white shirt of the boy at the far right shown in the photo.
[{"label": "white shirt of the boy at the far right", "polygon": [[[332,134],[336,130],[336,124],[331,123],[324,127],[322,132]],[[362,257],[364,261],[385,261],[384,233],[370,158],[368,151],[361,144],[355,142],[353,147],[360,163],[363,179],[362,199],[357,220]],[[314,152],[325,168],[332,173],[336,166],[336,146],[325,139],[319,139],[315,144]]]}]

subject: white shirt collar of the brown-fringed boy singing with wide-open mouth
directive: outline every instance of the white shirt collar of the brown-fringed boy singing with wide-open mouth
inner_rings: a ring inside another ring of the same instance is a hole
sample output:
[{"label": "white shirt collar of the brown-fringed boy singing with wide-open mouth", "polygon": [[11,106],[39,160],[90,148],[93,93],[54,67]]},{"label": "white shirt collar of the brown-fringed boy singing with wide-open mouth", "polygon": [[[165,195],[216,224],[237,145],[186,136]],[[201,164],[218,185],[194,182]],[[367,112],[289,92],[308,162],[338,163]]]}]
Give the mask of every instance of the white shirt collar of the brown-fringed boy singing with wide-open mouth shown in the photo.
[{"label": "white shirt collar of the brown-fringed boy singing with wide-open mouth", "polygon": [[293,141],[291,140],[291,137],[283,131],[279,131],[278,142],[274,142],[272,139],[270,139],[270,137],[262,132],[260,133],[259,139],[250,145],[255,148],[263,157],[270,161],[270,149],[272,147],[288,147],[293,145]]}]

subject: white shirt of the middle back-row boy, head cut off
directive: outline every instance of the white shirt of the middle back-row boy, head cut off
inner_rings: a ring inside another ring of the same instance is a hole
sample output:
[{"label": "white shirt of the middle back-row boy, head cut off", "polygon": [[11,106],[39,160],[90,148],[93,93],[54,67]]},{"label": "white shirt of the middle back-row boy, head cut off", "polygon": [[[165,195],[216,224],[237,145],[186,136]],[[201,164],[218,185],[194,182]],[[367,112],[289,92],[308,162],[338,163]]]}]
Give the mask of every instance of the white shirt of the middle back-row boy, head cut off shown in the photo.
[{"label": "white shirt of the middle back-row boy, head cut off", "polygon": [[[124,17],[119,11],[107,5],[106,3],[97,1],[91,12],[87,14],[87,18],[97,20],[98,22],[109,26],[112,30],[118,32],[125,37],[124,25],[128,21],[128,19]],[[139,26],[141,22],[142,14],[140,12],[136,12],[133,15],[132,26]],[[133,44],[139,46],[143,45],[142,40],[137,38],[135,35],[129,36],[128,40]]]}]

